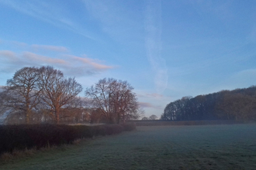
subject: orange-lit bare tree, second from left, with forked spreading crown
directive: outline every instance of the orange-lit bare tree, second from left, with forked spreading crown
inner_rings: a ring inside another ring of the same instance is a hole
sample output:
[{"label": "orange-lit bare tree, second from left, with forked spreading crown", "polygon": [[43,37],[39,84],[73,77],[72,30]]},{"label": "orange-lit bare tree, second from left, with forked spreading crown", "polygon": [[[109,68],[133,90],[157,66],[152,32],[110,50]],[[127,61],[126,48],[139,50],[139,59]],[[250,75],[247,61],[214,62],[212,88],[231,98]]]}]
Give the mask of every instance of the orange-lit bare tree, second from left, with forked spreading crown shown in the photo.
[{"label": "orange-lit bare tree, second from left, with forked spreading crown", "polygon": [[81,84],[74,78],[64,78],[60,70],[52,66],[40,68],[40,88],[42,89],[41,100],[49,107],[49,114],[56,124],[60,122],[61,109],[81,92]]}]

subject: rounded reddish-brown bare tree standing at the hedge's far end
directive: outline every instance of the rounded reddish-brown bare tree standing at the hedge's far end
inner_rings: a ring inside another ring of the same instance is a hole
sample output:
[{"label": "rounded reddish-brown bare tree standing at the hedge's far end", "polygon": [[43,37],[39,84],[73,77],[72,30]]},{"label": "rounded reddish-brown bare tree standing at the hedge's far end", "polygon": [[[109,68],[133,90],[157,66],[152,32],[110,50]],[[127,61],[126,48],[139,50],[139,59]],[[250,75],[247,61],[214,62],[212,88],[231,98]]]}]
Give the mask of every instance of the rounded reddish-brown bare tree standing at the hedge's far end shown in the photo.
[{"label": "rounded reddish-brown bare tree standing at the hedge's far end", "polygon": [[85,90],[85,95],[92,98],[92,103],[109,123],[119,124],[120,121],[137,118],[137,97],[126,81],[112,78],[99,80],[95,86]]}]

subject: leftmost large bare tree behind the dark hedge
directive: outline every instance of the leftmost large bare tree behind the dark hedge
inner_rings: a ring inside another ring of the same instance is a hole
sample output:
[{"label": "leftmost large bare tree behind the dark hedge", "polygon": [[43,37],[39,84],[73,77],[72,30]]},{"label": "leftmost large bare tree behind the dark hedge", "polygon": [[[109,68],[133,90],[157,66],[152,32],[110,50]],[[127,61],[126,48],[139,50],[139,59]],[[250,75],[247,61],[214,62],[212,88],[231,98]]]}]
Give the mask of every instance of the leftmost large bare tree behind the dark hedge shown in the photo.
[{"label": "leftmost large bare tree behind the dark hedge", "polygon": [[24,67],[16,71],[12,79],[7,80],[7,86],[1,93],[2,109],[9,110],[9,116],[25,114],[25,122],[29,124],[31,114],[40,102],[38,80],[39,70],[36,67]]}]

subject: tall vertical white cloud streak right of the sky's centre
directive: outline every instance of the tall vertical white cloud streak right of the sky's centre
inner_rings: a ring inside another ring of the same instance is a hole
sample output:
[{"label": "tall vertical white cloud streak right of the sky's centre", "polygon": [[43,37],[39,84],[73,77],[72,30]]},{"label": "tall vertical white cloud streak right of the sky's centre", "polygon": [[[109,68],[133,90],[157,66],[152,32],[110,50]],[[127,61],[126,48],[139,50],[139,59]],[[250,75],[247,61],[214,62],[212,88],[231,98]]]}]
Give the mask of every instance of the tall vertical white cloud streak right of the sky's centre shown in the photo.
[{"label": "tall vertical white cloud streak right of the sky's centre", "polygon": [[168,70],[161,56],[161,1],[146,1],[145,21],[146,50],[150,65],[154,70],[157,93],[162,93],[168,85]]}]

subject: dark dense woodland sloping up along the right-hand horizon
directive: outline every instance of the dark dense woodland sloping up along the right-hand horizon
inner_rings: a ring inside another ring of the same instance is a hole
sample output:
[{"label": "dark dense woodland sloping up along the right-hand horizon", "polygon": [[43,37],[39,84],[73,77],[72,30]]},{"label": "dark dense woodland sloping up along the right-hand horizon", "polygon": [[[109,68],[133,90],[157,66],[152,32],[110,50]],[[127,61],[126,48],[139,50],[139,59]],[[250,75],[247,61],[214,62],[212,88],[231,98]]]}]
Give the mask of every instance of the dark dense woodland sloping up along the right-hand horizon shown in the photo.
[{"label": "dark dense woodland sloping up along the right-hand horizon", "polygon": [[164,108],[161,120],[256,120],[256,86],[182,97]]}]

